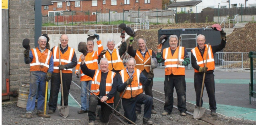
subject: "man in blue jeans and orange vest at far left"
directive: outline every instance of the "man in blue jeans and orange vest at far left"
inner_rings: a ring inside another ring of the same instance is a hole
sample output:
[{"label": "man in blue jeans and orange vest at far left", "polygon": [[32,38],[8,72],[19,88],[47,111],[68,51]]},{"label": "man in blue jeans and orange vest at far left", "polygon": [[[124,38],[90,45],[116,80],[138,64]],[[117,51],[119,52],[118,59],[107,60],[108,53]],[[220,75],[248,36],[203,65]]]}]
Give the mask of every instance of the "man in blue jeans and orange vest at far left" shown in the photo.
[{"label": "man in blue jeans and orange vest at far left", "polygon": [[30,64],[30,90],[26,118],[32,118],[36,94],[38,94],[37,113],[43,114],[46,81],[50,80],[53,72],[52,52],[46,48],[46,37],[39,37],[38,44],[39,46],[31,49],[30,52],[24,51],[24,61]]}]

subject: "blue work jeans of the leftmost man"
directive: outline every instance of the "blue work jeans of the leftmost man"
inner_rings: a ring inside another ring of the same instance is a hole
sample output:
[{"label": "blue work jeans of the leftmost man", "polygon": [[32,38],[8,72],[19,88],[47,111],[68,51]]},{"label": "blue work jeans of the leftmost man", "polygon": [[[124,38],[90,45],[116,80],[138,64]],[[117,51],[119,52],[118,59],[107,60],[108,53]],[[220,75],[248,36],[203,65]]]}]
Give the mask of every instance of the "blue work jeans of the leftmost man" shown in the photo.
[{"label": "blue work jeans of the leftmost man", "polygon": [[45,100],[45,79],[46,73],[42,71],[30,72],[30,89],[27,102],[27,113],[32,113],[35,109],[35,98],[38,89],[37,110],[42,112],[44,109]]}]

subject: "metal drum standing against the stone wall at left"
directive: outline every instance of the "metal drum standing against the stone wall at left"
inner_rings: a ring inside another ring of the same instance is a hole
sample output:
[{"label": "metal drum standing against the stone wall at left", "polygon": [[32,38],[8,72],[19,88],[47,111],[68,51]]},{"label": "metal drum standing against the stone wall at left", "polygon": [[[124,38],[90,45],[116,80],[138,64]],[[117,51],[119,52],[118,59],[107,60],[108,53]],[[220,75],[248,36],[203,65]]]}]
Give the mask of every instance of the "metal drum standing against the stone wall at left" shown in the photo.
[{"label": "metal drum standing against the stone wall at left", "polygon": [[17,106],[20,108],[26,108],[29,96],[29,86],[28,82],[21,82],[19,84],[19,97]]}]

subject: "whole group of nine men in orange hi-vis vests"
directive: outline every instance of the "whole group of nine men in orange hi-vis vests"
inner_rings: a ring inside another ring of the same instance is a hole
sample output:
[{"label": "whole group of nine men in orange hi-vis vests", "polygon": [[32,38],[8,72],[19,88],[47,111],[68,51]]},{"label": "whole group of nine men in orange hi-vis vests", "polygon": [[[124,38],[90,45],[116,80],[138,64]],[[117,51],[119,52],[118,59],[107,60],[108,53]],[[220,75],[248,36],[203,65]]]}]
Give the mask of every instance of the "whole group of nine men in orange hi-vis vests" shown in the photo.
[{"label": "whole group of nine men in orange hi-vis vests", "polygon": [[[63,80],[63,97],[64,105],[68,105],[68,94],[72,81],[72,68],[76,66],[75,75],[81,80],[81,109],[79,114],[88,113],[89,125],[94,125],[96,119],[101,122],[108,122],[114,105],[117,111],[121,109],[121,105],[117,105],[121,98],[124,110],[124,116],[135,122],[136,114],[141,113],[141,104],[144,104],[143,124],[151,125],[151,114],[157,112],[153,106],[153,67],[152,63],[165,62],[165,105],[162,115],[172,113],[173,108],[173,92],[176,89],[178,98],[178,110],[181,116],[186,116],[186,82],[185,82],[185,66],[190,64],[188,52],[184,47],[178,46],[178,37],[176,35],[169,36],[170,47],[162,49],[162,44],[157,45],[157,54],[147,49],[146,40],[139,38],[137,43],[138,50],[133,49],[134,38],[130,37],[127,49],[125,42],[125,32],[121,30],[122,44],[119,49],[115,48],[115,41],[109,39],[107,41],[107,49],[103,49],[98,34],[97,39],[98,51],[94,51],[94,41],[87,41],[87,53],[82,54],[77,62],[74,48],[68,46],[68,36],[66,34],[60,37],[60,46],[49,48],[49,38],[47,35],[39,37],[39,46],[24,51],[24,60],[26,64],[30,64],[30,94],[27,103],[26,118],[32,117],[35,108],[35,98],[38,94],[37,113],[43,113],[45,83],[51,79],[51,90],[49,99],[48,114],[53,114],[57,107],[57,98],[60,88],[60,70],[62,70]],[[216,114],[215,101],[215,85],[213,70],[215,63],[213,54],[222,50],[226,45],[226,33],[221,31],[221,44],[210,46],[205,43],[203,35],[197,36],[198,46],[192,49],[191,63],[195,71],[194,87],[196,91],[197,106],[199,106],[200,91],[203,79],[203,73],[206,73],[205,87],[209,97],[210,110],[212,116]],[[60,55],[59,55],[60,50]],[[128,54],[133,57],[127,60],[127,67],[123,65],[121,56],[128,50]],[[206,53],[209,56],[206,57]],[[60,57],[60,58],[59,58]],[[61,60],[61,64],[59,61]],[[207,60],[207,66],[205,66]],[[98,68],[98,64],[100,69]],[[157,64],[157,63],[156,63]],[[79,71],[79,68],[81,69]],[[86,97],[86,88],[95,95],[90,94],[89,100]],[[37,93],[38,89],[38,93]],[[145,92],[145,94],[143,94]],[[123,96],[122,96],[123,95]],[[121,97],[122,96],[122,97]],[[61,101],[62,102],[62,101]],[[61,105],[63,105],[61,103]],[[101,105],[96,116],[96,107]],[[202,103],[201,103],[202,105]],[[130,122],[128,122],[130,123]]]}]

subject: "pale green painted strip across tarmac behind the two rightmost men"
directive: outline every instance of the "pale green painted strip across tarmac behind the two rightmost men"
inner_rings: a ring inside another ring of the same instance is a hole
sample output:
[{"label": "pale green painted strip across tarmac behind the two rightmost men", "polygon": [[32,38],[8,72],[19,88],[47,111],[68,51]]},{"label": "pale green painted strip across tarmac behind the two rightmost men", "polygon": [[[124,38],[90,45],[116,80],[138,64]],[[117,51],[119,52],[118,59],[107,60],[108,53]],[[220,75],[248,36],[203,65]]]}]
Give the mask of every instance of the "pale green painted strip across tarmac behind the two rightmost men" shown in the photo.
[{"label": "pale green painted strip across tarmac behind the two rightmost men", "polygon": [[[164,82],[165,78],[154,78],[155,82]],[[193,78],[186,78],[186,83],[194,83]],[[250,79],[215,79],[215,84],[249,84]]]}]

